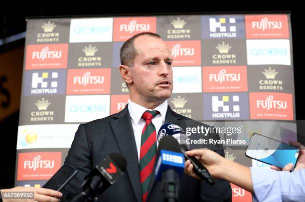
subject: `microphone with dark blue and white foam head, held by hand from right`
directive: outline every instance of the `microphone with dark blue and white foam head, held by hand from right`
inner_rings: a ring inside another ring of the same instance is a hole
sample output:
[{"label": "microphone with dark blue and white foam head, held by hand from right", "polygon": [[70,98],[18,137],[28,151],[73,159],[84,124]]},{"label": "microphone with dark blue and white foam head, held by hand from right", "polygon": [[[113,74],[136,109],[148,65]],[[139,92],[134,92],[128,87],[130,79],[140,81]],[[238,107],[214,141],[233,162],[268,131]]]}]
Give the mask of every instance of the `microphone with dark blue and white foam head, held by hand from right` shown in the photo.
[{"label": "microphone with dark blue and white foam head, held by hand from right", "polygon": [[174,137],[180,144],[180,151],[183,153],[184,158],[190,160],[193,164],[193,172],[201,179],[208,182],[210,185],[214,185],[214,179],[212,178],[209,171],[195,158],[189,157],[185,154],[186,151],[189,151],[189,144],[186,140],[188,136],[185,134],[183,129],[175,124],[163,124],[158,132],[157,140],[160,141],[163,137],[166,136]]}]

